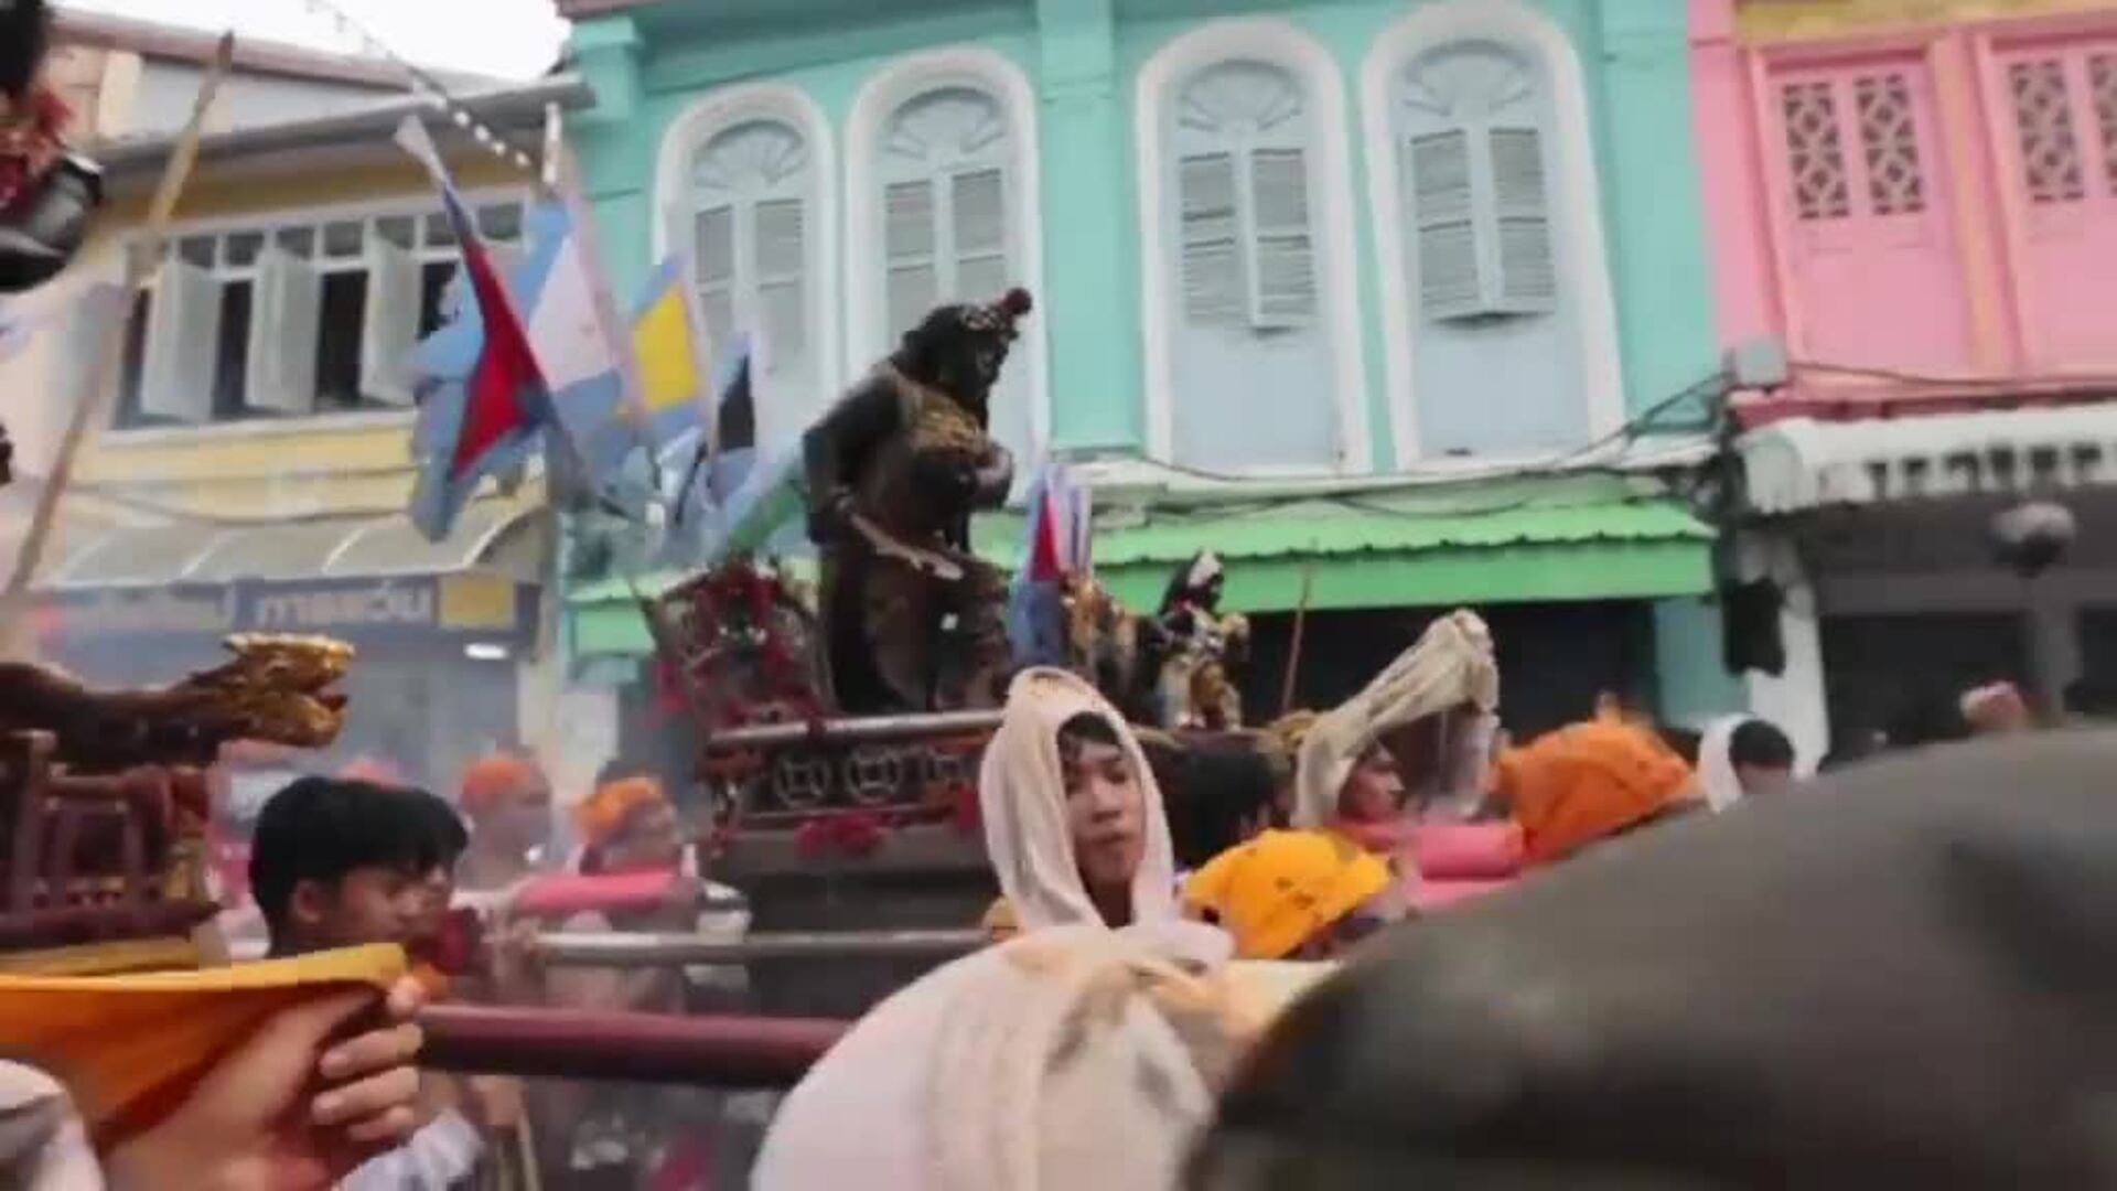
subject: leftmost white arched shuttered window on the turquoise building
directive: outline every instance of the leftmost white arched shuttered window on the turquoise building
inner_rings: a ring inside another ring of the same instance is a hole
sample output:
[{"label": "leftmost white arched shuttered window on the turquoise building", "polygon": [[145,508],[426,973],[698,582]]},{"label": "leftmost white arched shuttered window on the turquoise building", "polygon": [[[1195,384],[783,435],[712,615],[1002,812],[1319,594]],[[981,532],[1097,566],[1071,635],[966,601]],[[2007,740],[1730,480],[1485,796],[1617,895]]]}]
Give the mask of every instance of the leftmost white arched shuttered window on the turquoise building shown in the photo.
[{"label": "leftmost white arched shuttered window on the turquoise building", "polygon": [[821,119],[781,87],[707,95],[663,142],[656,250],[684,237],[713,367],[756,337],[764,441],[800,434],[838,381],[830,176]]}]

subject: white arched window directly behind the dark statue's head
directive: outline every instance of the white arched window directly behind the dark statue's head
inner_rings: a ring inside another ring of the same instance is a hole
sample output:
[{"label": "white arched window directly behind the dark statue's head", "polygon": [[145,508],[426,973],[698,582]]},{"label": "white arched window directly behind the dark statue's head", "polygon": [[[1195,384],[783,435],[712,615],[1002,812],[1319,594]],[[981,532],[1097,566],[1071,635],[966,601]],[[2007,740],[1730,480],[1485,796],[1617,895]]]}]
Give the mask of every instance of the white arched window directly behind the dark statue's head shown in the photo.
[{"label": "white arched window directly behind the dark statue's head", "polygon": [[[942,49],[872,78],[847,119],[847,189],[855,365],[936,305],[1039,290],[1035,100],[1003,55]],[[991,417],[1027,481],[1050,426],[1042,314],[1020,331]]]}]

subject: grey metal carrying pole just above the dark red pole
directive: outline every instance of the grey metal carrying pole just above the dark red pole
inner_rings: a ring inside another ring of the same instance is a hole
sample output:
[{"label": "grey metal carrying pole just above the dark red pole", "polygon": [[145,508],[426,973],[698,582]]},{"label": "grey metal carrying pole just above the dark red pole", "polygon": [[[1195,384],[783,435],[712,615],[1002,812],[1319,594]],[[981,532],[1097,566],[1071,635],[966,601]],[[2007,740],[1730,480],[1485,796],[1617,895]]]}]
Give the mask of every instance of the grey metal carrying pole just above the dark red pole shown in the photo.
[{"label": "grey metal carrying pole just above the dark red pole", "polygon": [[815,935],[538,935],[546,964],[652,968],[667,964],[743,964],[752,960],[953,960],[991,943],[984,930],[836,930]]}]

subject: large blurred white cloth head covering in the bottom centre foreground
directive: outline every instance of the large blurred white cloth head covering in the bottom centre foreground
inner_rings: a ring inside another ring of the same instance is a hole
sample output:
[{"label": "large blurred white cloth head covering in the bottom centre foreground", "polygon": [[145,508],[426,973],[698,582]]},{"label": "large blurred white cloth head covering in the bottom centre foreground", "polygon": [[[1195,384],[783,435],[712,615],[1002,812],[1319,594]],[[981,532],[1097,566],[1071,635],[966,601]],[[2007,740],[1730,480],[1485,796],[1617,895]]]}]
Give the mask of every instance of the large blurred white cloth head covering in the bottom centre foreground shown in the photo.
[{"label": "large blurred white cloth head covering in the bottom centre foreground", "polygon": [[1262,1028],[1194,922],[1023,935],[904,988],[788,1096],[758,1191],[1169,1191]]}]

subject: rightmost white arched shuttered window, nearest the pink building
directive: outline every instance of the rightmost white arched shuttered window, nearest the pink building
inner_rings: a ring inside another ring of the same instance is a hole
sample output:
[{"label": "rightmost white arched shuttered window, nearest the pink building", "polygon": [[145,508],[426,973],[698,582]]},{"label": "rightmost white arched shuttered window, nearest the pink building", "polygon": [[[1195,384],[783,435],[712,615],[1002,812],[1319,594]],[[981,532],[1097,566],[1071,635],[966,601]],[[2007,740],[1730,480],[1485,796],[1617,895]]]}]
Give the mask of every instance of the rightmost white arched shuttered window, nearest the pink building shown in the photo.
[{"label": "rightmost white arched shuttered window, nearest the pink building", "polygon": [[1518,0],[1450,0],[1363,72],[1397,462],[1575,447],[1624,422],[1588,97]]}]

